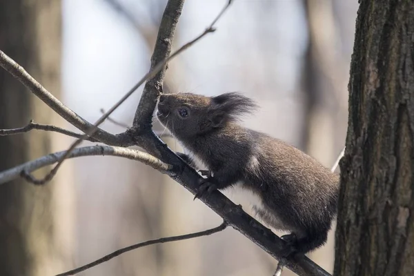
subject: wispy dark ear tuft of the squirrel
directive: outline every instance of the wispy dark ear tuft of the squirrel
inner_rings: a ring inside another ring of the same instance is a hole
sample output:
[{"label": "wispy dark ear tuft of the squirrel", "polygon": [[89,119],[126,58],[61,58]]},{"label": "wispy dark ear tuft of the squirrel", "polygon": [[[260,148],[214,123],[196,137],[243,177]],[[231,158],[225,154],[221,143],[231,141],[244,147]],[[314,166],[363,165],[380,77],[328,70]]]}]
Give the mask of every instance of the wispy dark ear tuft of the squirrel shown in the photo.
[{"label": "wispy dark ear tuft of the squirrel", "polygon": [[245,113],[251,113],[257,109],[253,99],[249,99],[238,92],[228,92],[211,98],[215,110],[223,113],[228,119],[237,119]]}]

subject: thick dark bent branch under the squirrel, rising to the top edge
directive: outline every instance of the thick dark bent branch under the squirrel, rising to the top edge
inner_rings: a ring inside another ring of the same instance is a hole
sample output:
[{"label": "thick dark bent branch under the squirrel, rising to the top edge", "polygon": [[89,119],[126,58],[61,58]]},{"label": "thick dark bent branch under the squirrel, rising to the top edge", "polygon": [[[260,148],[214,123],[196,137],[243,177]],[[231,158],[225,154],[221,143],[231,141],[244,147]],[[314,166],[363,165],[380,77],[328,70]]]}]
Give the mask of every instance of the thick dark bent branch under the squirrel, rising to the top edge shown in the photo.
[{"label": "thick dark bent branch under the squirrel, rising to the top edge", "polygon": [[[151,66],[157,64],[157,61],[168,57],[173,34],[171,28],[175,28],[175,24],[177,23],[177,21],[171,20],[171,18],[174,19],[179,16],[178,13],[181,12],[182,2],[184,1],[168,1],[166,10],[161,20],[157,43],[151,59]],[[228,5],[230,5],[230,3],[231,1],[228,2]],[[179,8],[174,7],[174,5]],[[228,6],[221,11],[219,16],[224,13],[226,8],[228,8]],[[179,10],[178,12],[177,9]],[[219,16],[217,18],[219,18]],[[215,19],[213,23],[216,21],[217,19]],[[210,28],[210,31],[212,30],[214,29]],[[145,148],[152,155],[159,157],[168,164],[172,164],[174,166],[173,171],[176,173],[176,176],[172,178],[195,195],[198,191],[197,184],[199,183],[201,176],[196,170],[194,170],[194,168],[188,166],[188,164],[175,155],[175,152],[172,152],[166,144],[157,139],[154,132],[152,132],[150,128],[152,113],[155,110],[157,97],[162,92],[162,83],[165,71],[166,68],[161,70],[156,77],[150,79],[146,83],[139,106],[135,112],[132,128],[130,128],[127,132],[129,132],[130,136],[134,137],[133,139],[135,140],[135,144]],[[286,243],[277,237],[277,235],[275,235],[275,233],[273,233],[270,229],[266,228],[257,220],[253,219],[253,217],[244,212],[241,206],[235,205],[219,191],[215,191],[209,197],[203,197],[200,200],[215,211],[215,213],[228,221],[233,228],[266,250],[266,252],[275,257],[275,259],[282,259],[280,256],[282,255],[282,250],[286,246]],[[317,264],[304,255],[296,255],[295,257],[286,259],[285,261],[286,267],[293,270],[298,275],[330,275],[326,272],[326,270],[320,266],[317,266]]]}]

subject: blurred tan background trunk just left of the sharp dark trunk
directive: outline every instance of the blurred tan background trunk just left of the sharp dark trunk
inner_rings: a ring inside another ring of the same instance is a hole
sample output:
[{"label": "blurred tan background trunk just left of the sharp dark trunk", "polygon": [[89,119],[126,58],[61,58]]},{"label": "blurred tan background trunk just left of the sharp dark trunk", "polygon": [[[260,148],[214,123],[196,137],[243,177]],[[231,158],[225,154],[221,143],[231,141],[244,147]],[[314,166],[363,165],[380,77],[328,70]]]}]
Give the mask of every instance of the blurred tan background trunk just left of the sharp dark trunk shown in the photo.
[{"label": "blurred tan background trunk just left of the sharp dark trunk", "polygon": [[[346,79],[342,77],[345,63],[335,53],[338,37],[332,1],[302,3],[308,24],[308,46],[302,71],[305,105],[300,147],[330,168],[343,148],[343,138],[338,137],[344,137],[346,131],[346,107],[340,104],[341,97],[346,95]],[[329,272],[333,271],[334,233],[335,226],[328,234],[326,246],[310,254]]]}]

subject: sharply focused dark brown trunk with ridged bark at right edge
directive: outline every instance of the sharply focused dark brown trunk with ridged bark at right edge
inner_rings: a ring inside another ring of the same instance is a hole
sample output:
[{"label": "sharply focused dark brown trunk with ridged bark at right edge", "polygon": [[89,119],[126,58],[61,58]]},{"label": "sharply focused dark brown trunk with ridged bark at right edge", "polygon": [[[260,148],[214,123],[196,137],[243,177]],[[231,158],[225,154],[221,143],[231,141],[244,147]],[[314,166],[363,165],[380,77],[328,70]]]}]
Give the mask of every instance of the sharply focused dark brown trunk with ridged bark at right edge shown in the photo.
[{"label": "sharply focused dark brown trunk with ridged bark at right edge", "polygon": [[414,275],[413,49],[413,1],[361,1],[335,275]]}]

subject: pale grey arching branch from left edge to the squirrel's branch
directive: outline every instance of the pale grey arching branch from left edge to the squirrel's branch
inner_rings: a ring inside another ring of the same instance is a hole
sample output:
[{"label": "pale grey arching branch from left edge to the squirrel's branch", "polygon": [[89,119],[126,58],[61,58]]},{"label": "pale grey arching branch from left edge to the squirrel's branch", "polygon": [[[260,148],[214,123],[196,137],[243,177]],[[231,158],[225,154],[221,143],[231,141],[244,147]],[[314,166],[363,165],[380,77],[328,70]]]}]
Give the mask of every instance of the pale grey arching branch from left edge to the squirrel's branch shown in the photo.
[{"label": "pale grey arching branch from left edge to the squirrel's branch", "polygon": [[[65,153],[66,150],[51,153],[50,155],[46,155],[38,159],[34,159],[32,161],[28,161],[25,164],[21,164],[17,167],[10,168],[9,170],[4,170],[3,172],[0,172],[0,184],[4,184],[20,176],[24,177],[26,175],[27,177],[28,173],[33,172],[34,170],[55,164],[57,161],[59,161],[59,158],[61,158]],[[68,158],[95,155],[117,156],[132,159],[135,161],[141,161],[142,163],[149,165],[152,168],[159,170],[160,172],[172,175],[172,173],[169,172],[169,170],[172,169],[172,166],[165,164],[163,161],[160,161],[159,159],[153,157],[152,155],[149,155],[146,152],[132,150],[129,148],[122,148],[116,146],[86,146],[75,149],[69,155]]]}]

